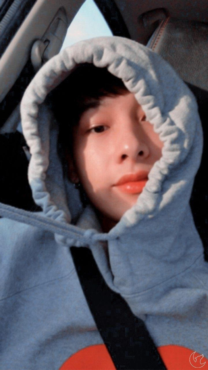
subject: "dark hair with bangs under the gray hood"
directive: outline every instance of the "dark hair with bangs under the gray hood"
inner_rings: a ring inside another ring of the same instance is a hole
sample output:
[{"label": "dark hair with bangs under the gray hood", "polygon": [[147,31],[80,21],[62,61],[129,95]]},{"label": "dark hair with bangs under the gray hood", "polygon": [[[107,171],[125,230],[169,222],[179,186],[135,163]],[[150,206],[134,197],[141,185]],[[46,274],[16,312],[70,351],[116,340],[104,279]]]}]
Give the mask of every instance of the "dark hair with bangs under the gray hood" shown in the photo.
[{"label": "dark hair with bangs under the gray hood", "polygon": [[78,124],[81,115],[89,108],[98,107],[105,96],[128,92],[123,81],[91,63],[77,65],[53,91],[47,102],[60,125],[59,142],[71,148],[71,128]]}]

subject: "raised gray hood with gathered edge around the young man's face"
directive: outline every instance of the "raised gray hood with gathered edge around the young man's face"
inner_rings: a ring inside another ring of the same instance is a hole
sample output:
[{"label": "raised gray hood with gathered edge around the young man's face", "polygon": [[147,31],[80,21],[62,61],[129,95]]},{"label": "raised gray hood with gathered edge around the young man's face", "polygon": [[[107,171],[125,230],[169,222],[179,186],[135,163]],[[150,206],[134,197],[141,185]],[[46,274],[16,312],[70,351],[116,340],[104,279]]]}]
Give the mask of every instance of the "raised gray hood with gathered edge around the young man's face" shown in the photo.
[{"label": "raised gray hood with gathered edge around the young man's face", "polygon": [[[101,231],[93,209],[83,207],[78,190],[63,175],[57,154],[58,124],[44,104],[48,92],[79,63],[107,67],[121,78],[164,143],[162,157],[151,168],[137,203],[108,233]],[[140,253],[140,259],[148,256],[164,264],[171,261],[172,266],[177,266],[171,273],[189,266],[203,253],[189,206],[202,155],[198,107],[187,85],[159,55],[118,36],[80,41],[38,71],[24,93],[21,120],[31,153],[28,181],[34,201],[42,207],[45,217],[71,224],[68,237],[55,234],[58,243],[90,246],[104,275],[109,259],[112,270],[131,265],[130,250],[132,256]],[[108,258],[99,248],[102,245],[108,246]],[[158,265],[163,271],[161,279],[165,276],[164,266]],[[155,268],[148,273],[154,276]],[[117,279],[115,285],[123,284],[127,279],[124,275],[114,271],[111,277],[114,283]],[[128,290],[132,282],[127,285]]]}]

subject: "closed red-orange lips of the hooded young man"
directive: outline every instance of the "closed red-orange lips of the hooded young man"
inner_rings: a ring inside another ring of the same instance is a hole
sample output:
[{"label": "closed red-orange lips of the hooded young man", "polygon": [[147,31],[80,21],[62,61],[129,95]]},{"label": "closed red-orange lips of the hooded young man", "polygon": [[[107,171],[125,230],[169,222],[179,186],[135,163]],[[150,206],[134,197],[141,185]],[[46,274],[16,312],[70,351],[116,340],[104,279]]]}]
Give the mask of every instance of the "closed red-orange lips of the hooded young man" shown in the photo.
[{"label": "closed red-orange lips of the hooded young man", "polygon": [[148,172],[140,171],[137,174],[127,174],[122,176],[119,181],[113,186],[124,193],[140,194],[147,181]]}]

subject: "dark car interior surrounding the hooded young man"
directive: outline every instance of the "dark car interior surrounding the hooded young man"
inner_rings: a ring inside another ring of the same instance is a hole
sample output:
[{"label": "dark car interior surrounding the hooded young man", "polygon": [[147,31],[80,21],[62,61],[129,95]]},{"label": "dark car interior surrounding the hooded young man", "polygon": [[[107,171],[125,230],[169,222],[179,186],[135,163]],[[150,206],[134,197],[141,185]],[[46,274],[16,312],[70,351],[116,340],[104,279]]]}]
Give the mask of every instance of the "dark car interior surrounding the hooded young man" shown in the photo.
[{"label": "dark car interior surrounding the hooded young man", "polygon": [[[0,201],[39,211],[27,182],[27,146],[17,131],[20,101],[38,69],[56,55],[82,0],[4,0],[0,2]],[[189,86],[198,102],[204,151],[191,195],[194,222],[208,261],[208,2],[95,0],[113,35],[160,54]]]}]

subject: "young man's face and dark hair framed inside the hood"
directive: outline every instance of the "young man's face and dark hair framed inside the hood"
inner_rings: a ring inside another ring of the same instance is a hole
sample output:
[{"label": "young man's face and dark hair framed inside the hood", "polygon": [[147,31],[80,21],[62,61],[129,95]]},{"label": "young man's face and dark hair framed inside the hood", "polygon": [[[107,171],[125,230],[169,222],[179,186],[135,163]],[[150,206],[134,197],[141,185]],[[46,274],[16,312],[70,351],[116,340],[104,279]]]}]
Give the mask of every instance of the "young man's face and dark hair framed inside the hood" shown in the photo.
[{"label": "young man's face and dark hair framed inside the hood", "polygon": [[134,94],[106,68],[81,64],[48,102],[60,124],[68,176],[87,194],[108,232],[137,202],[163,142]]}]

